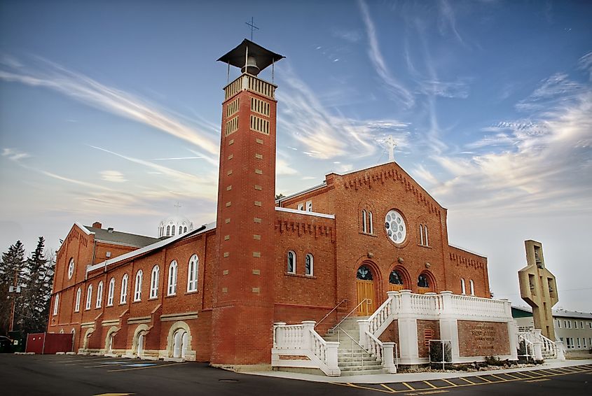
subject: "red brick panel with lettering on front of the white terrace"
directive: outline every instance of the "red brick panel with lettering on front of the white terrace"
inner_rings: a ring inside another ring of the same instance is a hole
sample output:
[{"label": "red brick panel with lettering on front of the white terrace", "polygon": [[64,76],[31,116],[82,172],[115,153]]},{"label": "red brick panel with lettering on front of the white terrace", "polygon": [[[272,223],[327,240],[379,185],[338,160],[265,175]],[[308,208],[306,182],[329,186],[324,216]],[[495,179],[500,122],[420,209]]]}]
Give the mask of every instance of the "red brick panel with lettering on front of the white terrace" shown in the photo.
[{"label": "red brick panel with lettering on front of the white terrace", "polygon": [[458,320],[460,356],[509,355],[507,323]]}]

